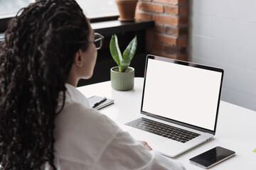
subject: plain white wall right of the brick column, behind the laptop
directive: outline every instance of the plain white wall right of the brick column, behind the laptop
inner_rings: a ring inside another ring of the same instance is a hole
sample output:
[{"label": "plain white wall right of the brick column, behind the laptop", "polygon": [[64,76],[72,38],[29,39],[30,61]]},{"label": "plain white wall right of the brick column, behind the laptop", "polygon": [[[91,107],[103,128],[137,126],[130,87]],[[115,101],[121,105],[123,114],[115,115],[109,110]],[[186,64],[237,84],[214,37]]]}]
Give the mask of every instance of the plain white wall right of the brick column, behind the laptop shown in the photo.
[{"label": "plain white wall right of the brick column, behind the laptop", "polygon": [[256,1],[189,5],[188,60],[223,68],[222,100],[256,111]]}]

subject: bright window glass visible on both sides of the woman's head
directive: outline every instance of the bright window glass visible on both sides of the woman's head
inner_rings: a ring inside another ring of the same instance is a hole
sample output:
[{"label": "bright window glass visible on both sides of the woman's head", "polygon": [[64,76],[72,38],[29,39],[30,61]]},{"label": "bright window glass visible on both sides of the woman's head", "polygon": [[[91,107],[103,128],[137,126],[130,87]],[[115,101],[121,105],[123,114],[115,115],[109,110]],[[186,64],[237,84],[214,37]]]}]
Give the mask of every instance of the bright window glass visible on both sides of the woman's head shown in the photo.
[{"label": "bright window glass visible on both sides of the woman's head", "polygon": [[[16,16],[20,8],[36,0],[0,0],[0,18]],[[118,10],[114,0],[77,0],[87,18],[117,16]]]}]

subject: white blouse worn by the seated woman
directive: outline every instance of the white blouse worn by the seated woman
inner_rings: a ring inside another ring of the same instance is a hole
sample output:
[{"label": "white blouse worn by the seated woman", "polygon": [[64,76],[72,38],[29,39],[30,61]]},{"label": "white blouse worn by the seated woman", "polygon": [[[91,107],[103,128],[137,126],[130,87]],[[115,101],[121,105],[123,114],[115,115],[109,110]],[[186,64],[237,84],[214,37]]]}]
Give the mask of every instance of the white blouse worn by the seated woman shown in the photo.
[{"label": "white blouse worn by the seated woman", "polygon": [[65,106],[55,118],[58,169],[184,169],[168,157],[149,151],[106,115],[89,108],[88,99],[75,86],[65,86]]}]

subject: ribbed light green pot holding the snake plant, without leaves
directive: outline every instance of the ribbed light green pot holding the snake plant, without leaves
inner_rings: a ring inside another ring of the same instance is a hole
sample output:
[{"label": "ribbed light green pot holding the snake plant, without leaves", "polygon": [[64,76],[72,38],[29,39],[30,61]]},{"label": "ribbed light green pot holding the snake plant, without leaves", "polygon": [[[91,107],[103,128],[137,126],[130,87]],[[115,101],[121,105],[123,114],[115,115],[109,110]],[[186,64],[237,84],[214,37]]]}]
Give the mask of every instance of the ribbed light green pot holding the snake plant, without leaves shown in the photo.
[{"label": "ribbed light green pot holding the snake plant, without leaves", "polygon": [[134,68],[128,67],[126,72],[118,72],[118,67],[112,67],[110,80],[113,89],[129,91],[134,88]]}]

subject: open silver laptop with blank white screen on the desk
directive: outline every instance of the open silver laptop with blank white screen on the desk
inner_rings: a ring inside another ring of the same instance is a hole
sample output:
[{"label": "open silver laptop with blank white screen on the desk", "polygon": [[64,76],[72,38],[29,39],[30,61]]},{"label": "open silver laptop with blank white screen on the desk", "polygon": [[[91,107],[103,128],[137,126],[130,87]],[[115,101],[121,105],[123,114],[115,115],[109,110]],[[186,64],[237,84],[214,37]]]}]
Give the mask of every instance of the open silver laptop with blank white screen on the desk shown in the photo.
[{"label": "open silver laptop with blank white screen on the desk", "polygon": [[147,55],[142,118],[129,121],[130,135],[176,157],[215,135],[223,69]]}]

